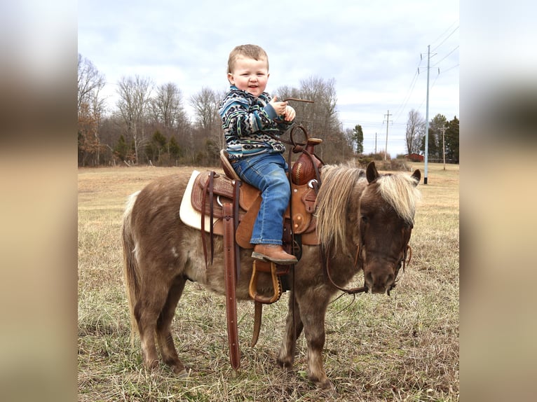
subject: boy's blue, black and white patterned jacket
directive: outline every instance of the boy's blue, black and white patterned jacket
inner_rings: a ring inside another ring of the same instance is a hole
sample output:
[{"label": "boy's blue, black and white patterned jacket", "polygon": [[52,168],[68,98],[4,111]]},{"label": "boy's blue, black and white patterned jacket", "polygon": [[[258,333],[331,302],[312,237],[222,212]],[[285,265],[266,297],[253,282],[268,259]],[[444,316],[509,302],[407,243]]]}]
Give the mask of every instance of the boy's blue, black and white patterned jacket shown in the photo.
[{"label": "boy's blue, black and white patterned jacket", "polygon": [[266,92],[254,97],[231,85],[218,111],[230,160],[285,151],[283,143],[267,133],[280,136],[293,123],[276,116],[269,102],[271,96]]}]

